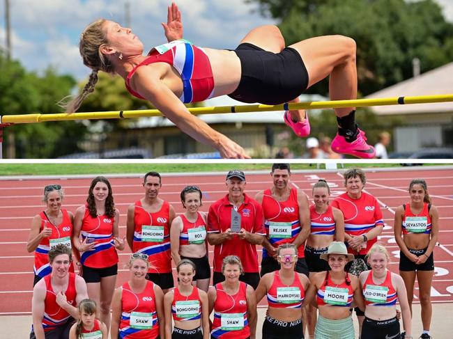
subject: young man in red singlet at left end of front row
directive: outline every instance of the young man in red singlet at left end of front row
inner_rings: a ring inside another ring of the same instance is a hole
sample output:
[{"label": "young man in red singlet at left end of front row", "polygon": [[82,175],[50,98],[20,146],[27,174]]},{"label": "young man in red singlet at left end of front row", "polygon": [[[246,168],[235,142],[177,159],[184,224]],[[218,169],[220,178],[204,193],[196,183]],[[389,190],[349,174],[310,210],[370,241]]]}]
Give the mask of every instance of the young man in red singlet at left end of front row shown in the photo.
[{"label": "young man in red singlet at left end of front row", "polygon": [[36,283],[31,300],[31,339],[68,339],[77,305],[88,298],[84,278],[70,273],[71,250],[64,244],[49,251],[52,272]]}]

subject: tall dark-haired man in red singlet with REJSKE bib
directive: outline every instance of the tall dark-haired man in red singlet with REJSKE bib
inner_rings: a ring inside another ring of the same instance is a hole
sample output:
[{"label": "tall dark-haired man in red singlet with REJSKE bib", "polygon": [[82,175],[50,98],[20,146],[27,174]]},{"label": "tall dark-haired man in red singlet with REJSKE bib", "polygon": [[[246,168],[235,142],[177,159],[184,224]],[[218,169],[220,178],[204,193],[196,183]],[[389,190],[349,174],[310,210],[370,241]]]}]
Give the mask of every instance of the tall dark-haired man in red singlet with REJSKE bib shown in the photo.
[{"label": "tall dark-haired man in red singlet with REJSKE bib", "polygon": [[277,249],[281,244],[294,244],[298,249],[295,271],[308,276],[304,244],[310,234],[310,214],[307,194],[302,189],[289,187],[289,164],[273,164],[270,173],[274,186],[259,191],[255,199],[263,206],[266,237],[263,241],[261,276],[277,271]]}]

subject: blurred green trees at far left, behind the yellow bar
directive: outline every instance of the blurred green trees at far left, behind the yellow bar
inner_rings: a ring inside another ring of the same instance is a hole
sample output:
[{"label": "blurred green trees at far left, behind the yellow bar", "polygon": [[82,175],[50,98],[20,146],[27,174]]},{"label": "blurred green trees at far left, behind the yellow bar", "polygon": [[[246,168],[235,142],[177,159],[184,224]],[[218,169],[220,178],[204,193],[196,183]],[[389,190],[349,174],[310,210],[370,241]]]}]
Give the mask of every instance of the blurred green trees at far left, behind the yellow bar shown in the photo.
[{"label": "blurred green trees at far left, behind the yellow bar", "polygon": [[[59,113],[56,104],[70,93],[75,80],[52,68],[42,76],[27,72],[19,61],[8,60],[0,51],[0,114]],[[78,150],[86,127],[82,123],[55,122],[17,124],[6,128],[13,134],[17,158],[51,158]]]}]

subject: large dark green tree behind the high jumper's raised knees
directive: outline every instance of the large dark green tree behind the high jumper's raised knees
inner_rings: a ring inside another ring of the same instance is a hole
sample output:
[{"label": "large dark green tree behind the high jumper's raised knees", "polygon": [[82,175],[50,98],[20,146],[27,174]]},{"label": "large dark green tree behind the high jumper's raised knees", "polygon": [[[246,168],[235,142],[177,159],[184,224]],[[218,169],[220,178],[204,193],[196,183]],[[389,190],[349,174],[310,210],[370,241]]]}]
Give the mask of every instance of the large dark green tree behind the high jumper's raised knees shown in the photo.
[{"label": "large dark green tree behind the high jumper's raised knees", "polygon": [[[359,91],[374,93],[452,60],[453,24],[432,0],[249,0],[279,19],[286,44],[312,36],[342,34],[358,45]],[[327,81],[309,93],[328,93]]]}]

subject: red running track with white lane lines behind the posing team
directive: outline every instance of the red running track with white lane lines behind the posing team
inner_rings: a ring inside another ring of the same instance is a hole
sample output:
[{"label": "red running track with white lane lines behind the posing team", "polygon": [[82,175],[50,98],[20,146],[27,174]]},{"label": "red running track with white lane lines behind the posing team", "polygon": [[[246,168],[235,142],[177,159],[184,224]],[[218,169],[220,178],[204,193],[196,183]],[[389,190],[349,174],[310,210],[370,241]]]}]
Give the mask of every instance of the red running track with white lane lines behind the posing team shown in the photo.
[{"label": "red running track with white lane lines behind the posing team", "polygon": [[[201,210],[208,212],[208,207],[215,200],[226,194],[222,175],[181,175],[164,176],[160,197],[169,200],[176,213],[183,212],[179,194],[186,184],[197,184],[204,192],[204,205]],[[342,177],[339,173],[313,171],[295,173],[291,177],[294,187],[303,189],[311,196],[312,184],[318,178],[325,178],[332,187],[332,196],[341,194]],[[431,291],[433,303],[453,303],[453,169],[420,171],[380,171],[367,172],[365,190],[373,194],[383,205],[383,217],[386,223],[381,241],[392,252],[392,271],[398,270],[399,249],[393,237],[394,209],[408,201],[407,187],[413,178],[427,180],[433,204],[440,214],[440,245],[434,250],[436,276]],[[128,205],[144,194],[141,178],[109,178],[114,191],[115,205],[120,210],[120,232],[125,235],[125,221]],[[31,294],[33,285],[33,253],[27,253],[25,246],[33,216],[43,210],[41,202],[43,187],[58,183],[65,190],[63,207],[72,212],[86,199],[91,178],[56,179],[56,180],[4,180],[0,181],[0,315],[18,315],[31,313]],[[254,196],[256,191],[272,185],[268,174],[247,174],[246,193]],[[117,285],[128,278],[125,262],[130,253],[128,247],[120,253],[120,272]],[[212,249],[211,249],[212,250]],[[212,252],[210,252],[212,255]],[[261,249],[259,251],[261,257]],[[261,259],[261,258],[260,258]],[[212,258],[210,260],[212,262]],[[416,286],[417,287],[417,286]],[[417,302],[415,290],[414,302]],[[263,303],[264,304],[264,303]]]}]

